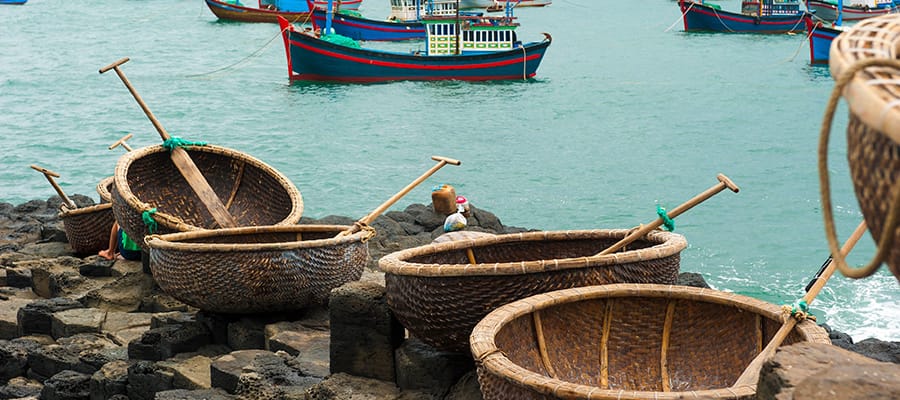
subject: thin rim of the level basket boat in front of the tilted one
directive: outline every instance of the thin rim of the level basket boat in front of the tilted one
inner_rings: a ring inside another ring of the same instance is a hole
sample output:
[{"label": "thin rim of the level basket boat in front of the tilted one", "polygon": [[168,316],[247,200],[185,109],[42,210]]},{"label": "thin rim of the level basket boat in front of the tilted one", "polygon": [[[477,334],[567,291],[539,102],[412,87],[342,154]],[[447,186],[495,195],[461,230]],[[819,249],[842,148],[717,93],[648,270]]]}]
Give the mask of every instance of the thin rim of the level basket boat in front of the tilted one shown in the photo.
[{"label": "thin rim of the level basket boat in front of the tilted one", "polygon": [[164,235],[147,235],[144,243],[151,251],[182,251],[188,253],[238,253],[251,251],[285,251],[315,247],[338,246],[355,242],[366,242],[375,236],[372,230],[360,230],[350,235],[317,240],[295,240],[274,243],[186,243],[183,240],[202,239],[215,236],[235,236],[264,233],[303,233],[344,231],[351,225],[262,225],[227,229],[203,229],[190,232],[176,232]]}]

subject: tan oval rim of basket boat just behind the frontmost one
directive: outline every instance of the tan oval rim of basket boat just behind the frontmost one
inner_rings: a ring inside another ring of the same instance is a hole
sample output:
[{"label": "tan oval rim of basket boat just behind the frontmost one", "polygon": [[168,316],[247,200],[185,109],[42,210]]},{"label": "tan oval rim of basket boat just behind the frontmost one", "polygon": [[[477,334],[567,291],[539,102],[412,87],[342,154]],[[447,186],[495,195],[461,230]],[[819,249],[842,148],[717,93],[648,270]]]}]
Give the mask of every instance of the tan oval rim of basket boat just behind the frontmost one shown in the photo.
[{"label": "tan oval rim of basket boat just behind the frontmost one", "polygon": [[511,242],[578,238],[621,239],[629,232],[631,232],[630,229],[531,231],[485,236],[474,239],[461,239],[444,243],[431,243],[388,254],[378,261],[378,267],[386,274],[422,277],[520,275],[658,259],[678,254],[687,247],[687,239],[685,239],[684,236],[673,232],[657,230],[648,233],[646,238],[650,241],[656,241],[658,244],[643,249],[616,252],[602,256],[593,255],[491,264],[424,264],[405,261],[409,258],[426,254],[464,249],[477,250],[477,248],[481,246]]}]

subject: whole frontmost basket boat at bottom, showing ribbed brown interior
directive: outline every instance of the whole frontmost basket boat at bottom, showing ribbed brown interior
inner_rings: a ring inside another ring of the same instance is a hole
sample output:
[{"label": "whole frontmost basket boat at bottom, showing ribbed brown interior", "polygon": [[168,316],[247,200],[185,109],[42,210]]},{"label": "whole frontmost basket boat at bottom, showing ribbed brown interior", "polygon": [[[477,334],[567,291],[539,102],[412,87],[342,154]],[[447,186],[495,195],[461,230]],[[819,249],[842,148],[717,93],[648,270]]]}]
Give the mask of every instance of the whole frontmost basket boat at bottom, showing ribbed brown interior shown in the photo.
[{"label": "whole frontmost basket boat at bottom, showing ribbed brown interior", "polygon": [[[470,340],[485,400],[754,399],[734,382],[783,318],[733,293],[613,284],[504,305]],[[784,345],[801,341],[830,343],[808,320]]]}]

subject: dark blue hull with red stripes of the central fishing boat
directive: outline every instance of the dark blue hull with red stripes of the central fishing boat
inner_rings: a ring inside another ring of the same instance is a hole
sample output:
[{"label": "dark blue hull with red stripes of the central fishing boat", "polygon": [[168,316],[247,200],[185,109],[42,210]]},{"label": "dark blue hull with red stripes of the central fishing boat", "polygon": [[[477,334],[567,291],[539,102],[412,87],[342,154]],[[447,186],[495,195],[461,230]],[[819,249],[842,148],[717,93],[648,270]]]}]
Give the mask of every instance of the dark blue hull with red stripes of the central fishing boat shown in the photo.
[{"label": "dark blue hull with red stripes of the central fishing boat", "polygon": [[294,30],[280,20],[292,81],[511,80],[534,77],[551,40],[478,55],[424,56],[350,48]]}]

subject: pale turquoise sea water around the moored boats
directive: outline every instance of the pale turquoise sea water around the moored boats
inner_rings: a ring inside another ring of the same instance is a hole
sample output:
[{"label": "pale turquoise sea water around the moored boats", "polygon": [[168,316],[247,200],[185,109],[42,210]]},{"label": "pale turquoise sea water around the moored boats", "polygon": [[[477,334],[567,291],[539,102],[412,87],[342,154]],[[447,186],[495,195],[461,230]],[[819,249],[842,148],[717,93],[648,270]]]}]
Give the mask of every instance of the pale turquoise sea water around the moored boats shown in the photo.
[{"label": "pale turquoise sea water around the moored boats", "polygon": [[[252,0],[251,0],[252,1]],[[723,0],[726,10],[740,1]],[[724,191],[676,219],[682,270],[716,289],[791,303],[828,257],[817,141],[833,80],[809,65],[804,34],[686,33],[678,5],[555,0],[517,12],[519,38],[553,44],[529,81],[288,81],[274,24],[218,21],[201,0],[30,0],[0,6],[0,201],[55,194],[97,199],[121,148],[160,138],[115,73],[122,71],[173,136],[262,159],[300,189],[304,215],[361,218],[456,158],[393,209],[429,203],[447,183],[505,225],[630,228],[715,185]],[[360,9],[385,18],[387,0]],[[368,44],[366,44],[368,45]],[[378,45],[401,51],[416,42]],[[839,240],[862,215],[850,181],[842,103],[830,165]],[[874,255],[866,234],[850,261]],[[813,313],[856,340],[900,340],[900,284],[886,268],[836,274]]]}]

